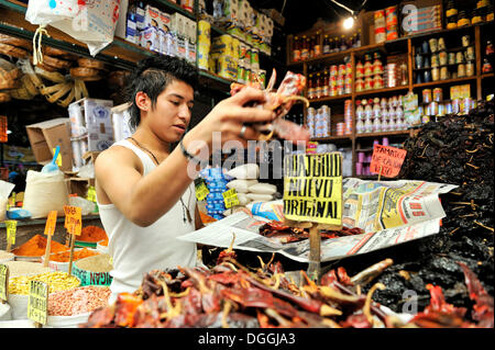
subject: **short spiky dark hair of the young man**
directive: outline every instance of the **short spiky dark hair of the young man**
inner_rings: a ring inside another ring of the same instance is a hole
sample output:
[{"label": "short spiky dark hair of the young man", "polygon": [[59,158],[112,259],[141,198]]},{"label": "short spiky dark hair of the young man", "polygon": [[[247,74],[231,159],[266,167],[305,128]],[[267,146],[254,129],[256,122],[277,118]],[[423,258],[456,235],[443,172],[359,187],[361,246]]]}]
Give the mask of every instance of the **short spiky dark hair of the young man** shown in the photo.
[{"label": "short spiky dark hair of the young man", "polygon": [[152,101],[152,108],[156,105],[158,95],[174,80],[184,81],[194,90],[198,87],[199,74],[195,66],[183,58],[172,56],[153,56],[138,63],[138,67],[131,74],[125,89],[127,100],[130,101],[133,129],[141,122],[141,110],[135,105],[135,95],[143,91]]}]

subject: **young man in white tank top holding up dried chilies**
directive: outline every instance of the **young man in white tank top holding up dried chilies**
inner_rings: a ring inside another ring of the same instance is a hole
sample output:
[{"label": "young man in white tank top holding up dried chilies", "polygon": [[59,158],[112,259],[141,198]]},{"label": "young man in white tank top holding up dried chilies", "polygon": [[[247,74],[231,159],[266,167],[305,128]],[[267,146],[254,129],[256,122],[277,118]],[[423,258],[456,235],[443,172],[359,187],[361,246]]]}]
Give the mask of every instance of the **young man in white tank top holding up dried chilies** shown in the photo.
[{"label": "young man in white tank top holding up dried chilies", "polygon": [[205,149],[207,157],[211,154],[213,132],[221,133],[222,144],[235,139],[246,145],[260,135],[243,123],[275,117],[271,111],[244,108],[264,101],[261,91],[248,88],[221,101],[186,134],[197,81],[197,69],[183,59],[154,56],[141,61],[129,86],[135,132],[95,163],[100,217],[113,261],[110,303],[118,293],[138,290],[153,269],[196,264],[196,245],[177,239],[201,227],[189,160],[205,156]]}]

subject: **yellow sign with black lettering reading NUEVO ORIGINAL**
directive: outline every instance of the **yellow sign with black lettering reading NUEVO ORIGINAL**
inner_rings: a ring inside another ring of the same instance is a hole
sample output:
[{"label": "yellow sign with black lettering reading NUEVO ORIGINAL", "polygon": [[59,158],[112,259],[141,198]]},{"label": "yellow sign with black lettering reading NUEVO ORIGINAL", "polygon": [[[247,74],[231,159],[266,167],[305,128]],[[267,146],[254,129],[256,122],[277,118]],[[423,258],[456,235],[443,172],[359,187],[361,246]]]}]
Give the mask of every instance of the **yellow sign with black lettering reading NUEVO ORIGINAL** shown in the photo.
[{"label": "yellow sign with black lettering reading NUEVO ORIGINAL", "polygon": [[284,215],[296,222],[342,225],[340,153],[285,158]]}]

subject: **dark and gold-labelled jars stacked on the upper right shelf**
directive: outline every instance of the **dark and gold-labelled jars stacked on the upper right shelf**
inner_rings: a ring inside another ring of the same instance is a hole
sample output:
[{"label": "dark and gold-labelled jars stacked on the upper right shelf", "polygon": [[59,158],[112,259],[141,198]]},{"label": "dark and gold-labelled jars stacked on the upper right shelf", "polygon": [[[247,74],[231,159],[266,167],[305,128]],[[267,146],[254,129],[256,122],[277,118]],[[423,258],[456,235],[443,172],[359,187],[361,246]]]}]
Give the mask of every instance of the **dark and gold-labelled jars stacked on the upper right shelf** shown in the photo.
[{"label": "dark and gold-labelled jars stacked on the upper right shelf", "polygon": [[443,37],[432,37],[416,46],[416,83],[474,76],[474,43],[465,34],[461,37],[461,44],[459,49],[448,49]]}]

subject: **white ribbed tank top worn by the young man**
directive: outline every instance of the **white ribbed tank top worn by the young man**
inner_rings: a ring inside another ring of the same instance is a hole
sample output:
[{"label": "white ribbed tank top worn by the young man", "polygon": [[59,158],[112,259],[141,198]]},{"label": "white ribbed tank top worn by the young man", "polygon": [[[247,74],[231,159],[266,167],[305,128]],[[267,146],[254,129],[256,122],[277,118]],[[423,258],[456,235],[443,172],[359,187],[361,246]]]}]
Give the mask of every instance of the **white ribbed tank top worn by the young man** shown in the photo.
[{"label": "white ribbed tank top worn by the young man", "polygon": [[[143,163],[143,176],[156,168],[150,156],[129,140],[112,146],[130,148]],[[157,189],[160,190],[160,189]],[[166,188],[163,189],[166,191]],[[98,203],[100,219],[107,232],[108,250],[112,257],[112,295],[109,304],[119,293],[133,293],[139,289],[145,273],[153,269],[196,266],[196,244],[178,240],[177,237],[195,230],[196,194],[194,183],[183,194],[193,222],[184,222],[184,211],[178,201],[167,213],[148,227],[140,227],[129,221],[113,204]],[[97,199],[98,200],[98,199]],[[187,214],[186,214],[187,215]]]}]

